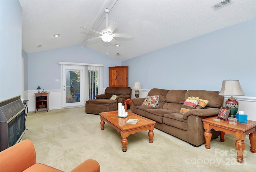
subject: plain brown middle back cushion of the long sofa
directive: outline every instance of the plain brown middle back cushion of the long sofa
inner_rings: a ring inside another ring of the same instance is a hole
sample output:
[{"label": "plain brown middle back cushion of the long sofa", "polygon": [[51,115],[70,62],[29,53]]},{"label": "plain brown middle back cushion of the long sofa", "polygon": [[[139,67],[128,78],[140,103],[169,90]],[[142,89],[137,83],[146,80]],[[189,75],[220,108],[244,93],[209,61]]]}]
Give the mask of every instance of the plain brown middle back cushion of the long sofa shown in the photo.
[{"label": "plain brown middle back cushion of the long sofa", "polygon": [[170,90],[166,94],[166,102],[168,103],[184,103],[187,90]]}]

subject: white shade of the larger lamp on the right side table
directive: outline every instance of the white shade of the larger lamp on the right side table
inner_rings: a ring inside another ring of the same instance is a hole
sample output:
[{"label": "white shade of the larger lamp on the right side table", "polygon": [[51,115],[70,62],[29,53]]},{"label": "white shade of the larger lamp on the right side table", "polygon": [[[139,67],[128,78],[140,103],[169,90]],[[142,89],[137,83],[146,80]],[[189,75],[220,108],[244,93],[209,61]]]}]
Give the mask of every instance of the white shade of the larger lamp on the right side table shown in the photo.
[{"label": "white shade of the larger lamp on the right side table", "polygon": [[244,96],[239,80],[224,80],[220,90],[221,96]]}]

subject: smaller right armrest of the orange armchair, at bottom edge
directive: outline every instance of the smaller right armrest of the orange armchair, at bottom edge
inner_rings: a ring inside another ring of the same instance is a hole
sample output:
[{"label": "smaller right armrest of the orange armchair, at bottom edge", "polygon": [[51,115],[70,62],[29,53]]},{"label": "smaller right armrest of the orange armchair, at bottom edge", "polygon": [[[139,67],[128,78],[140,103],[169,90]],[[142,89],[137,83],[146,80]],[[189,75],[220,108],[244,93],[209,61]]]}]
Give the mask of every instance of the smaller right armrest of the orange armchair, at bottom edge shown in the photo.
[{"label": "smaller right armrest of the orange armchair, at bottom edge", "polygon": [[100,172],[100,164],[96,160],[88,159],[71,172]]}]

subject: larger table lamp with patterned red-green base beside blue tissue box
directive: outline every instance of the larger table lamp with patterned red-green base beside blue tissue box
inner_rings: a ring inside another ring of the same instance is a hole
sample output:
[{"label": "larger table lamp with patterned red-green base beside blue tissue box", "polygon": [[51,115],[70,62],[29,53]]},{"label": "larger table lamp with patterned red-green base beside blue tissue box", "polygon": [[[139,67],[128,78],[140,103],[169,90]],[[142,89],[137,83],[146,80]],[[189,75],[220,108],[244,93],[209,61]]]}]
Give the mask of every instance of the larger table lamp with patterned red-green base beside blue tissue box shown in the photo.
[{"label": "larger table lamp with patterned red-green base beside blue tissue box", "polygon": [[233,96],[244,96],[244,91],[239,80],[224,80],[220,90],[220,96],[231,96],[225,102],[226,108],[230,108],[229,117],[236,117],[238,111],[238,101]]}]

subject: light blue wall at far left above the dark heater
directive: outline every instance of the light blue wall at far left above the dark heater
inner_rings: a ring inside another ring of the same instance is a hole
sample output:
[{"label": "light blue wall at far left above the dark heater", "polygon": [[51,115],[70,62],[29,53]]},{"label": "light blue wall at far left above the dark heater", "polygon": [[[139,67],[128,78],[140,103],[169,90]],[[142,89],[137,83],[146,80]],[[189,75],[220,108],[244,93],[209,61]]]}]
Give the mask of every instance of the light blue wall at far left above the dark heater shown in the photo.
[{"label": "light blue wall at far left above the dark heater", "polygon": [[21,17],[18,0],[0,0],[0,101],[22,93]]}]

